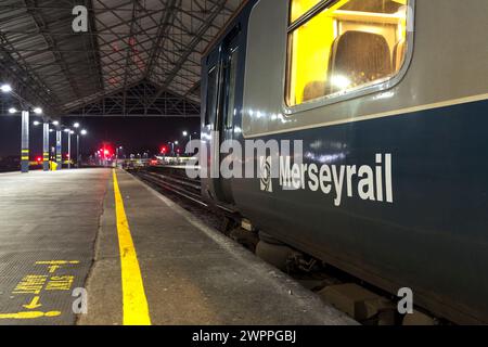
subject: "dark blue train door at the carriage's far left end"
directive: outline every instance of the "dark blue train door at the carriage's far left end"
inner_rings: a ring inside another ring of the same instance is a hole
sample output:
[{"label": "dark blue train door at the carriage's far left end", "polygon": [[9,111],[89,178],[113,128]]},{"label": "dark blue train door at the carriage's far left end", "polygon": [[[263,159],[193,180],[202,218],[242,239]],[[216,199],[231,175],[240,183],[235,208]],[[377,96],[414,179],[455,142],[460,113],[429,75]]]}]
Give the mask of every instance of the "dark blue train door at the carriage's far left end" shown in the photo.
[{"label": "dark blue train door at the carriage's far left end", "polygon": [[[220,154],[220,145],[227,140],[233,140],[234,136],[234,116],[235,111],[235,93],[239,63],[239,34],[240,27],[236,26],[223,39],[219,48],[218,64],[208,75],[208,92],[213,92],[210,88],[216,88],[213,95],[207,97],[207,102],[214,102],[213,134],[210,156],[210,171],[213,174],[211,191],[215,197],[223,203],[233,204],[233,195],[231,180],[224,179],[220,175],[220,166],[223,156]],[[217,53],[217,52],[215,52]],[[214,83],[211,87],[210,83]],[[215,100],[214,100],[215,98]],[[211,100],[210,100],[211,99]],[[218,178],[216,178],[218,177]]]}]

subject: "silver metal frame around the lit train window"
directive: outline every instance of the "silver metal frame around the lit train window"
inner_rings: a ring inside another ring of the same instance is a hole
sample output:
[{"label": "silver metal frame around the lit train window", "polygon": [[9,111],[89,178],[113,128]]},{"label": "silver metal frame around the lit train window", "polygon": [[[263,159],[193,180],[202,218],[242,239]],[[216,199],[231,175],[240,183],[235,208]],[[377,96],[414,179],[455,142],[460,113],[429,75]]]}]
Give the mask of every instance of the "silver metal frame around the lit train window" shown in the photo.
[{"label": "silver metal frame around the lit train window", "polygon": [[287,15],[287,29],[286,29],[286,59],[285,59],[285,68],[284,68],[284,76],[283,76],[283,100],[282,100],[282,108],[284,111],[284,116],[286,118],[292,118],[294,115],[345,102],[348,100],[357,99],[360,97],[364,97],[368,94],[373,94],[376,92],[384,92],[388,89],[391,89],[396,87],[407,75],[407,72],[410,68],[410,65],[412,63],[413,59],[413,51],[414,51],[414,33],[415,33],[415,4],[416,0],[407,0],[407,27],[410,27],[410,30],[407,30],[407,49],[404,53],[404,61],[401,68],[395,74],[389,77],[378,79],[377,81],[371,83],[371,85],[364,85],[363,87],[359,87],[352,90],[346,90],[342,92],[335,92],[332,94],[323,95],[320,98],[317,98],[314,100],[301,102],[300,104],[296,105],[288,105],[287,99],[288,99],[288,88],[290,88],[290,64],[291,60],[290,56],[292,54],[292,46],[290,40],[290,34],[297,29],[301,24],[310,21],[314,15],[319,14],[324,9],[333,5],[335,2],[339,0],[323,0],[319,2],[317,5],[312,7],[307,11],[299,20],[291,23],[291,11],[292,11],[292,0],[288,0],[288,15]]}]

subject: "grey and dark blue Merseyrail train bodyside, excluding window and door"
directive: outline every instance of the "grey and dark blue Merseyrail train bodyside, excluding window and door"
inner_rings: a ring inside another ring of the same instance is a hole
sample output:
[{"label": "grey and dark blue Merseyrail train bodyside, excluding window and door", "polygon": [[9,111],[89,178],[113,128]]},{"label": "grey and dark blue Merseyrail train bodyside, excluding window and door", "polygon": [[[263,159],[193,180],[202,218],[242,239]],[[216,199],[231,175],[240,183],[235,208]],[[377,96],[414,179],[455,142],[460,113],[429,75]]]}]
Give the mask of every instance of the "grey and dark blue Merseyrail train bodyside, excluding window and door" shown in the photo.
[{"label": "grey and dark blue Merseyrail train bodyside, excluding window and door", "polygon": [[[249,1],[228,31],[240,26],[232,127],[219,129],[204,111],[203,139],[301,140],[303,157],[280,156],[271,185],[204,178],[203,194],[223,196],[258,229],[393,294],[412,288],[435,314],[487,323],[488,3],[409,4],[414,31],[395,76],[287,106],[290,1]],[[246,155],[243,165],[260,167],[262,158]]]}]

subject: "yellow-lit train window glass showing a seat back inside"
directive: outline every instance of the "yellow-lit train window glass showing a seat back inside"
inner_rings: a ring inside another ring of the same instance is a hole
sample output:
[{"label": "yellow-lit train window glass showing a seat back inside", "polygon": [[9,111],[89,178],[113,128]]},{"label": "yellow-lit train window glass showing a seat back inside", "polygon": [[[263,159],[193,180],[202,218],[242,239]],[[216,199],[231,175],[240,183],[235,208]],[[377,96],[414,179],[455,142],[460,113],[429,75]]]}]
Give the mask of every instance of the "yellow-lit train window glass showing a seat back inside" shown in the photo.
[{"label": "yellow-lit train window glass showing a seat back inside", "polygon": [[408,0],[291,1],[288,106],[375,85],[400,70]]}]

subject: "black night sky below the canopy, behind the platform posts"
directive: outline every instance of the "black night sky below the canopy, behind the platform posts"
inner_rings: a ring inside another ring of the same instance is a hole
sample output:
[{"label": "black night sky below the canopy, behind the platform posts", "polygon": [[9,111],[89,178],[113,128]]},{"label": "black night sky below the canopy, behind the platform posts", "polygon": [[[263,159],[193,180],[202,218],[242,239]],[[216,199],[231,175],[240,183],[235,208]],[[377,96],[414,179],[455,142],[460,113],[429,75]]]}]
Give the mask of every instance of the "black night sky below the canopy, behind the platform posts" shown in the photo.
[{"label": "black night sky below the canopy, behind the platform posts", "polygon": [[[30,156],[42,154],[42,126],[35,127],[30,117]],[[191,131],[200,134],[198,118],[142,118],[142,117],[86,117],[63,118],[62,123],[72,126],[75,121],[87,129],[88,136],[82,139],[80,151],[86,156],[98,151],[104,142],[115,146],[124,146],[127,155],[150,151],[155,154],[169,141],[184,143],[182,132]],[[200,136],[197,136],[200,137]],[[76,142],[72,138],[72,145]],[[50,133],[51,146],[54,145],[55,133]],[[63,153],[66,153],[67,136],[63,133]],[[184,150],[184,149],[183,149]],[[21,153],[21,116],[0,115],[0,156],[20,155]]]}]

